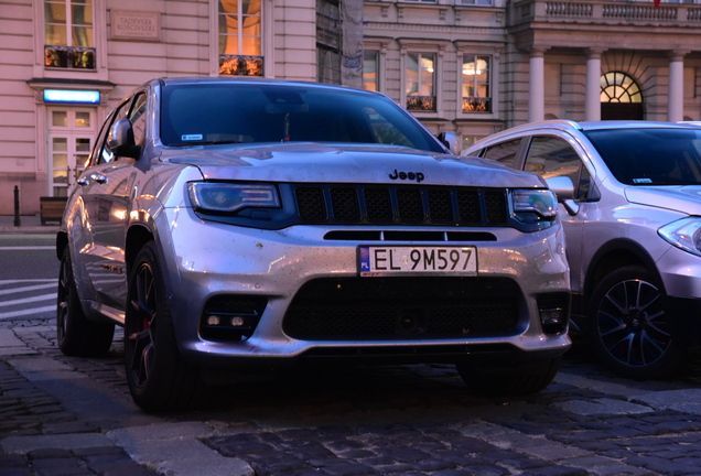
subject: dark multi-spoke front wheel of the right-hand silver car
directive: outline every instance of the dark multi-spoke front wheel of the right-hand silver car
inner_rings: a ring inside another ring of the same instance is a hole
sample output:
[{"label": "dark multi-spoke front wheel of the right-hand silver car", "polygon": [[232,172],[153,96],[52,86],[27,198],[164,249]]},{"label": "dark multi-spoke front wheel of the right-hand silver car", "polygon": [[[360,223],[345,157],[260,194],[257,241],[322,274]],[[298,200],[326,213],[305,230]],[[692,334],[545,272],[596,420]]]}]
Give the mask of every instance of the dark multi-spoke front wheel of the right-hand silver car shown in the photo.
[{"label": "dark multi-spoke front wheel of the right-hand silver car", "polygon": [[683,331],[666,307],[665,291],[645,268],[625,267],[601,280],[587,310],[594,353],[606,368],[634,379],[675,369],[686,347]]}]

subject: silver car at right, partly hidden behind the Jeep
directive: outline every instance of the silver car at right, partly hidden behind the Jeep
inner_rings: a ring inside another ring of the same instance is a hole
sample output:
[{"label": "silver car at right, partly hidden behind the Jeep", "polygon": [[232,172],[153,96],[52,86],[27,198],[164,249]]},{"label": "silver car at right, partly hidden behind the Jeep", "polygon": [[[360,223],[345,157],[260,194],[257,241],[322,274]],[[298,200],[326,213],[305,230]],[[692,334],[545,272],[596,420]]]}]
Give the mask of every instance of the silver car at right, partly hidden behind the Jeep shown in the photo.
[{"label": "silver car at right, partly hidden behind the Jeep", "polygon": [[677,367],[701,324],[701,128],[542,121],[463,152],[542,175],[561,202],[574,324],[616,372]]}]

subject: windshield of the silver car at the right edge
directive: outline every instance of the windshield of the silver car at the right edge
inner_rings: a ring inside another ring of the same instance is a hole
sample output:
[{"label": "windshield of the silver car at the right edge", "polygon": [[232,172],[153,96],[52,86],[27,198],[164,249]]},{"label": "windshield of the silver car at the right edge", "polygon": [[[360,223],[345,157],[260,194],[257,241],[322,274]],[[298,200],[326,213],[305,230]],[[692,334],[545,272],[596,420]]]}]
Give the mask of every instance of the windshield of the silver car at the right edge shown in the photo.
[{"label": "windshield of the silver car at the right edge", "polygon": [[618,182],[701,184],[701,129],[606,129],[584,134]]}]

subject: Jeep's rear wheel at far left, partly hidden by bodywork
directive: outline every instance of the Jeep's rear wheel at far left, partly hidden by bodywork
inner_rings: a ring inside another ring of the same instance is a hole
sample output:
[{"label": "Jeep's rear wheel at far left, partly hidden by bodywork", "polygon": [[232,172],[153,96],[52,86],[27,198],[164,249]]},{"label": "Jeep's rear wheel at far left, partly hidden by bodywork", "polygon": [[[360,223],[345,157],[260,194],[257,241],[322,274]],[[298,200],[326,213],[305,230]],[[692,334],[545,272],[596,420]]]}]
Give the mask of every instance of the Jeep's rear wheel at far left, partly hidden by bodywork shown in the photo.
[{"label": "Jeep's rear wheel at far left, partly hidden by bodywork", "polygon": [[56,339],[64,355],[104,357],[112,345],[115,324],[95,322],[85,316],[73,277],[71,252],[65,247],[61,257],[56,293]]}]

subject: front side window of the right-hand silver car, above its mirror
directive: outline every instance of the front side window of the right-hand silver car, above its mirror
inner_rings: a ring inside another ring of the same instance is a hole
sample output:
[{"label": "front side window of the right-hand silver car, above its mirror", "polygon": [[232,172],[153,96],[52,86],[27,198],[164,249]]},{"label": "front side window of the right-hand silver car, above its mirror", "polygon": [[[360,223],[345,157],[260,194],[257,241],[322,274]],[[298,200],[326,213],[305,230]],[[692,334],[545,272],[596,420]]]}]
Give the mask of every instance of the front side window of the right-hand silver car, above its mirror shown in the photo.
[{"label": "front side window of the right-hand silver car, above its mirror", "polygon": [[586,199],[590,174],[572,147],[557,137],[533,137],[524,166],[526,172],[544,178],[569,176],[574,184],[574,199]]}]

